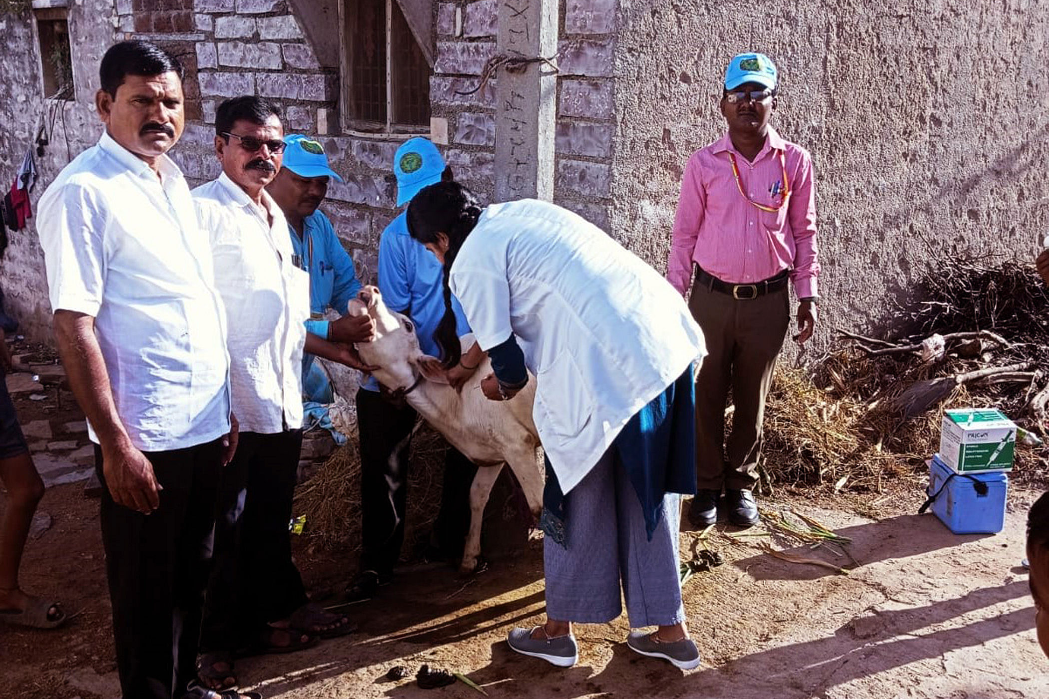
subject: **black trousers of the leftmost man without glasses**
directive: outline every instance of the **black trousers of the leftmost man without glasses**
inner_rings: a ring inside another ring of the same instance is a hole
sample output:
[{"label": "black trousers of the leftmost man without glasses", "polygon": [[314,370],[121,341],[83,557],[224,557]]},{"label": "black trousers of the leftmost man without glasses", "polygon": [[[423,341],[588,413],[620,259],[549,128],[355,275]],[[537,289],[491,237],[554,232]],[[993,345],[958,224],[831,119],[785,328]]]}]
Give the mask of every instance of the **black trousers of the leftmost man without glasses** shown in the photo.
[{"label": "black trousers of the leftmost man without glasses", "polygon": [[95,445],[102,544],[124,699],[172,699],[196,678],[221,440],[146,458],[164,487],[151,515],[113,502]]}]

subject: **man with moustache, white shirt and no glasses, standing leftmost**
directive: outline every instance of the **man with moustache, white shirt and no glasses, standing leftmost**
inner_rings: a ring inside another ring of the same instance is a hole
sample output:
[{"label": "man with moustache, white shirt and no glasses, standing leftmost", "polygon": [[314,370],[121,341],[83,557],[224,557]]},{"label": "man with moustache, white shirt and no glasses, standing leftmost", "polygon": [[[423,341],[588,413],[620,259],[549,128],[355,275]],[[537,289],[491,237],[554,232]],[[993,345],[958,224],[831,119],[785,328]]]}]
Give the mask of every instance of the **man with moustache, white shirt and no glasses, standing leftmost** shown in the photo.
[{"label": "man with moustache, white shirt and no glasses, standing leftmost", "polygon": [[183,67],[106,51],[106,126],[40,199],[55,335],[95,442],[116,664],[128,699],[189,691],[221,466],[236,447],[226,315],[208,237],[167,151]]}]

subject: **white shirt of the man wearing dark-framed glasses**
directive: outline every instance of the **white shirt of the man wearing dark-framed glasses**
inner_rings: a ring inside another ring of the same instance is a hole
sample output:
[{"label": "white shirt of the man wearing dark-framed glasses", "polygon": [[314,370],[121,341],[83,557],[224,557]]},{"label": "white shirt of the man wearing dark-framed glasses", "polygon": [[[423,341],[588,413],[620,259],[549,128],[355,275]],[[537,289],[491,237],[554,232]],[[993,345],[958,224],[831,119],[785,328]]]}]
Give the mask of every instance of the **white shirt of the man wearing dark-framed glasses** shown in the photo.
[{"label": "white shirt of the man wearing dark-framed glasses", "polygon": [[287,221],[265,191],[259,206],[224,172],[193,190],[193,202],[226,305],[233,414],[241,432],[296,430],[309,274],[293,263]]}]

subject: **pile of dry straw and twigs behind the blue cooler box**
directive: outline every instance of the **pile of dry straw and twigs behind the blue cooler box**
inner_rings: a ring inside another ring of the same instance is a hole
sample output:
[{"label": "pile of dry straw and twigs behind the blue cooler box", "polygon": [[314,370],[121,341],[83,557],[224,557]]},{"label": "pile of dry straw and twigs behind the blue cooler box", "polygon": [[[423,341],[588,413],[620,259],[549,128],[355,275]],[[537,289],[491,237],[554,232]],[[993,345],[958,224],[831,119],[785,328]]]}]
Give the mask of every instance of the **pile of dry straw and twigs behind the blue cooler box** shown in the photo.
[{"label": "pile of dry straw and twigs behind the blue cooler box", "polygon": [[[766,482],[881,492],[924,471],[946,408],[996,407],[1046,436],[1049,293],[1030,264],[933,265],[894,320],[895,340],[839,331],[808,372],[777,371]],[[942,343],[923,346],[934,334]],[[1049,449],[1021,446],[1013,478],[1044,484]]]}]

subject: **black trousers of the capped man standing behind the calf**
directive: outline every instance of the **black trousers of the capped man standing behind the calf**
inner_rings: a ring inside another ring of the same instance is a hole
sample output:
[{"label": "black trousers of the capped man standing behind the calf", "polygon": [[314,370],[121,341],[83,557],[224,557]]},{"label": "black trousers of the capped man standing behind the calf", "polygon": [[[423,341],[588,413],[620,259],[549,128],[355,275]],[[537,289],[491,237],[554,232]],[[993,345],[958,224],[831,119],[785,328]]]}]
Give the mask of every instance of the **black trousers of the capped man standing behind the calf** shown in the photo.
[{"label": "black trousers of the capped man standing behind the calf", "polygon": [[[404,543],[408,452],[418,413],[376,391],[357,392],[361,436],[361,570],[382,577],[393,572]],[[453,446],[445,456],[441,511],[433,525],[437,546],[449,558],[463,553],[470,527],[470,485],[477,466]]]}]

